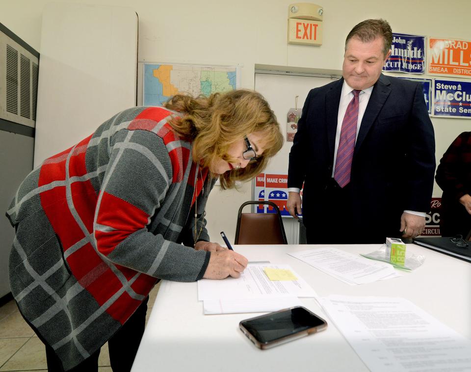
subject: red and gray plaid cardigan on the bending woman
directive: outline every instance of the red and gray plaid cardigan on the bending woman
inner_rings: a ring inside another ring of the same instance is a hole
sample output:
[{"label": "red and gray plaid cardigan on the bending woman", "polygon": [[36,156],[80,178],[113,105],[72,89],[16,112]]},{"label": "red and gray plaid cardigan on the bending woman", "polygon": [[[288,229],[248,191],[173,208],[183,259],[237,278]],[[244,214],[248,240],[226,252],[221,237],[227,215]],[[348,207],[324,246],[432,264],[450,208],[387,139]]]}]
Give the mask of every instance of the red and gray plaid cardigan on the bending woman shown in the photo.
[{"label": "red and gray plaid cardigan on the bending woman", "polygon": [[204,212],[215,180],[171,131],[175,116],[162,107],[115,115],[34,169],[10,205],[12,293],[66,370],[105,344],[157,278],[195,281],[208,266],[209,252],[189,248],[192,206],[198,195]]}]

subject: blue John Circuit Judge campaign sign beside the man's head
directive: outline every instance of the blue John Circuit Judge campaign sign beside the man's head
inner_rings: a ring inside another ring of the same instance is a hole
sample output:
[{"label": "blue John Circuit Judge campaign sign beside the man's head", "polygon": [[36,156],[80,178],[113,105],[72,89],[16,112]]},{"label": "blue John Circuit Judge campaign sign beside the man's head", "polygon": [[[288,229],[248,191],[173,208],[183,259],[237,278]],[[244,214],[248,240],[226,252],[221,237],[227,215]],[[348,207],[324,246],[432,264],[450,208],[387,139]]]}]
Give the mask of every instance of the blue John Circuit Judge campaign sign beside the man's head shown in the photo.
[{"label": "blue John Circuit Judge campaign sign beside the man's head", "polygon": [[423,74],[425,71],[425,38],[393,32],[391,55],[386,60],[383,71]]}]

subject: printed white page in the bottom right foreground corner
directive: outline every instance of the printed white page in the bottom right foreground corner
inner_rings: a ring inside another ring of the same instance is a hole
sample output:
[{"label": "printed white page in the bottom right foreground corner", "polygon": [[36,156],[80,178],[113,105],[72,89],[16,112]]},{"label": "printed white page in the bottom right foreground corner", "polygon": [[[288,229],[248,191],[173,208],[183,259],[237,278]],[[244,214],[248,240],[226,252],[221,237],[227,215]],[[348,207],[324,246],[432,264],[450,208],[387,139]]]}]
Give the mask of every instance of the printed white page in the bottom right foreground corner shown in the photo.
[{"label": "printed white page in the bottom right foreground corner", "polygon": [[471,371],[471,341],[404,298],[330,295],[321,304],[371,372]]}]

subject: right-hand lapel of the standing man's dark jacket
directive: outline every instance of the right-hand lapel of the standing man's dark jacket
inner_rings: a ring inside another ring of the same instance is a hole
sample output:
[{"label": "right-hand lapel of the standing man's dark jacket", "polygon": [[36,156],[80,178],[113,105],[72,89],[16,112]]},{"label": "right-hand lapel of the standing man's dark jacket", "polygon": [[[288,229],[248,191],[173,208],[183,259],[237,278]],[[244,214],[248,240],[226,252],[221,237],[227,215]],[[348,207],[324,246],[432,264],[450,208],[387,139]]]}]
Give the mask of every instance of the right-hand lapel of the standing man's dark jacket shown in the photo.
[{"label": "right-hand lapel of the standing man's dark jacket", "polygon": [[358,132],[357,142],[355,143],[355,153],[362,145],[366,138],[366,134],[368,134],[371,126],[379,114],[379,111],[381,111],[381,108],[383,108],[386,99],[391,93],[391,88],[389,87],[390,84],[391,83],[389,82],[388,78],[383,74],[379,76],[378,81],[376,81],[374,84],[371,97],[369,98],[368,105],[366,106],[365,114],[363,115],[360,131]]}]

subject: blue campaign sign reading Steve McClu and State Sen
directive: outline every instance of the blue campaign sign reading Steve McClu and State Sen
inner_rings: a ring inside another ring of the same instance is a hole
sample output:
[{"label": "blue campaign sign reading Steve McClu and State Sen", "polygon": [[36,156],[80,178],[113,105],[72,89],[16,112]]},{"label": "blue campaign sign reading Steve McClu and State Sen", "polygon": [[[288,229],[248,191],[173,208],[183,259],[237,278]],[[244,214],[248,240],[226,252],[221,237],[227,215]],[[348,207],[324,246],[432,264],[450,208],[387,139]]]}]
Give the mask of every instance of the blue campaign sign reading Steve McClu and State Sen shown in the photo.
[{"label": "blue campaign sign reading Steve McClu and State Sen", "polygon": [[434,80],[433,115],[471,118],[471,82]]}]

